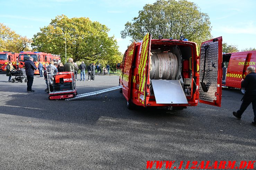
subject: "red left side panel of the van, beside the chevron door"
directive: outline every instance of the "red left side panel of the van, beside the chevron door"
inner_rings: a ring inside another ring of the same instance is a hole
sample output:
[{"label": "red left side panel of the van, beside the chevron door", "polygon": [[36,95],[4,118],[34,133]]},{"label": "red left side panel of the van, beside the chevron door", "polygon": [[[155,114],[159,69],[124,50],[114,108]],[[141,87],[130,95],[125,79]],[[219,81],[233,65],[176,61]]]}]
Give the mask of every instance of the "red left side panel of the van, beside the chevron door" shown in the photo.
[{"label": "red left side panel of the van, beside the chevron door", "polygon": [[132,63],[135,54],[135,42],[133,42],[127,49],[124,58],[124,68],[123,68],[123,79],[122,79],[122,91],[126,100],[131,98],[131,88],[132,88]]}]

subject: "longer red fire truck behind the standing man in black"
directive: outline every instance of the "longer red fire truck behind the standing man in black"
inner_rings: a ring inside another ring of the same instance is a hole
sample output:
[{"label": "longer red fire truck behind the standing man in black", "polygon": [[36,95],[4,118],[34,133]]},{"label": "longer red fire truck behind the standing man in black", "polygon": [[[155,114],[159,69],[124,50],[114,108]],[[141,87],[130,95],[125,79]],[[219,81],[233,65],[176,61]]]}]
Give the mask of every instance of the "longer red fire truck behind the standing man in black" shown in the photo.
[{"label": "longer red fire truck behind the standing man in black", "polygon": [[[38,67],[39,61],[44,65],[45,63],[50,63],[50,61],[54,61],[59,63],[60,56],[52,55],[50,53],[45,52],[32,52],[32,51],[21,51],[19,53],[19,62],[20,67],[25,67],[24,63],[26,60],[29,60],[29,57],[33,57],[33,62],[35,63],[36,67]],[[35,70],[35,74],[39,74],[39,70]]]}]

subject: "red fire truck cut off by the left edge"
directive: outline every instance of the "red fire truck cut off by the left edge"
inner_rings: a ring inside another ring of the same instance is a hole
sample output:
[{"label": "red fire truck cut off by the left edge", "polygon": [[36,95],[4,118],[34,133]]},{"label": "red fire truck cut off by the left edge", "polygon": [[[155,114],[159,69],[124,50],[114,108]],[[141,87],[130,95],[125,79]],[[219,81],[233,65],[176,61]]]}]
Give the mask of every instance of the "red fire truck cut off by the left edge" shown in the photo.
[{"label": "red fire truck cut off by the left edge", "polygon": [[12,66],[16,69],[18,56],[19,56],[18,53],[14,53],[10,51],[0,52],[0,71],[6,71],[6,66],[9,61],[12,62]]}]

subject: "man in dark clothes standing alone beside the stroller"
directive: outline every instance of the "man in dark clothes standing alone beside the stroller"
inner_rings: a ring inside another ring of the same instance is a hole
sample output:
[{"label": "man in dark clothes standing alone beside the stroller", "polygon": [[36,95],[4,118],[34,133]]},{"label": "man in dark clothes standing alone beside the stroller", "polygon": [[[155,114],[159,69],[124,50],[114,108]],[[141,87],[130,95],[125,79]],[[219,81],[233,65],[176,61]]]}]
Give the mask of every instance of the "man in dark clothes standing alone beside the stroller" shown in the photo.
[{"label": "man in dark clothes standing alone beside the stroller", "polygon": [[29,57],[29,60],[25,61],[24,65],[27,76],[27,92],[35,92],[35,90],[32,90],[32,85],[34,81],[34,70],[37,68],[33,62],[33,57]]}]

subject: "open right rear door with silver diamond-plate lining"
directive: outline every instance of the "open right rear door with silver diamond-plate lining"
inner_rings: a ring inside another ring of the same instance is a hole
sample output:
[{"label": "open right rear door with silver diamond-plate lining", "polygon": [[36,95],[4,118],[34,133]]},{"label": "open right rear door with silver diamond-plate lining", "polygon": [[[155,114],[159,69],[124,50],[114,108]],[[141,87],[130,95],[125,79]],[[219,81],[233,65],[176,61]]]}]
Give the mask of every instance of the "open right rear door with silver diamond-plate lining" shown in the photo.
[{"label": "open right rear door with silver diamond-plate lining", "polygon": [[199,66],[199,101],[221,106],[222,37],[201,44]]}]

